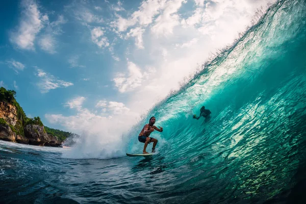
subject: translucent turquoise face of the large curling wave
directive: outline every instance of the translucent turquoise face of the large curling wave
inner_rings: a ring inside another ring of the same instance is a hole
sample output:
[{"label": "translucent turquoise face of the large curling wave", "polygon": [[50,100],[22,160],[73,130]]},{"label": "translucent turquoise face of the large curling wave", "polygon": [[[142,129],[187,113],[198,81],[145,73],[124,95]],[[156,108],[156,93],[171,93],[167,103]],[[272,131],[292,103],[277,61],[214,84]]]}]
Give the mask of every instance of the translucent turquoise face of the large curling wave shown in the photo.
[{"label": "translucent turquoise face of the large curling wave", "polygon": [[[201,203],[268,199],[297,182],[295,175],[305,167],[305,6],[281,1],[271,7],[137,127],[153,115],[164,127],[152,137],[159,139],[163,162],[171,164],[165,169],[184,169],[175,193],[188,192],[186,199]],[[192,118],[201,106],[211,110],[210,120]],[[134,134],[129,150],[141,152]]]}]

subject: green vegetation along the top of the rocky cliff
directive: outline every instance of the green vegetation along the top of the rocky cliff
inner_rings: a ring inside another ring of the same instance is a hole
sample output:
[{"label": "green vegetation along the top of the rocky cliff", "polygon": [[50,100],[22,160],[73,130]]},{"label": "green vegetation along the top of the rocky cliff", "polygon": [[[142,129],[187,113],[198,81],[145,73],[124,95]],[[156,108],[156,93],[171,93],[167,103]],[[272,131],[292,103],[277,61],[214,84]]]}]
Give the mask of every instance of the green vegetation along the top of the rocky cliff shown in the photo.
[{"label": "green vegetation along the top of the rocky cliff", "polygon": [[[6,103],[12,104],[16,107],[18,120],[15,126],[10,125],[11,130],[15,132],[17,135],[24,136],[24,127],[27,126],[28,124],[37,124],[40,126],[44,126],[40,117],[28,118],[27,115],[25,115],[23,109],[16,101],[15,97],[16,97],[16,91],[7,90],[4,87],[0,88],[0,101],[5,101]],[[7,122],[5,121],[4,118],[0,118],[0,124],[7,124]],[[44,126],[44,132],[46,132],[49,135],[56,136],[58,140],[61,142],[71,135],[71,133],[69,132],[52,129],[46,126]]]}]

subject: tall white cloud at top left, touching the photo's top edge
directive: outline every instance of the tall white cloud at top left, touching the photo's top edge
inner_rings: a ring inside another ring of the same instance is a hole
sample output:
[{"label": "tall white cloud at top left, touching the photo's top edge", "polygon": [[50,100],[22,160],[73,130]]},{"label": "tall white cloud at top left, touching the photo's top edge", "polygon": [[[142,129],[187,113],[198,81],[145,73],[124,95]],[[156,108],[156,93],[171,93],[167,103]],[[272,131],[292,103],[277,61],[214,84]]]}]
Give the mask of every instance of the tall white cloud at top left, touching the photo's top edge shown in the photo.
[{"label": "tall white cloud at top left, touching the photo's top edge", "polygon": [[10,41],[21,49],[34,50],[36,35],[43,28],[43,20],[46,17],[41,16],[38,6],[33,0],[23,0],[21,9],[19,26],[17,31],[11,33]]}]

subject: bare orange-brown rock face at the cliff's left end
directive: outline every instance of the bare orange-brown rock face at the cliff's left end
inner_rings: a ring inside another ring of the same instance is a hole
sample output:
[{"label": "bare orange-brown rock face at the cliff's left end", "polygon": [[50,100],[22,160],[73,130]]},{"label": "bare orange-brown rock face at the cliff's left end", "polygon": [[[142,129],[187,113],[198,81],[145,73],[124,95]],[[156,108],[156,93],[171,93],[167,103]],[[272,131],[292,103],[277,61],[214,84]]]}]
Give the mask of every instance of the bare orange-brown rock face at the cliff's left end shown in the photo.
[{"label": "bare orange-brown rock face at the cliff's left end", "polygon": [[16,107],[0,101],[0,118],[5,119],[9,124],[15,126],[18,120]]}]

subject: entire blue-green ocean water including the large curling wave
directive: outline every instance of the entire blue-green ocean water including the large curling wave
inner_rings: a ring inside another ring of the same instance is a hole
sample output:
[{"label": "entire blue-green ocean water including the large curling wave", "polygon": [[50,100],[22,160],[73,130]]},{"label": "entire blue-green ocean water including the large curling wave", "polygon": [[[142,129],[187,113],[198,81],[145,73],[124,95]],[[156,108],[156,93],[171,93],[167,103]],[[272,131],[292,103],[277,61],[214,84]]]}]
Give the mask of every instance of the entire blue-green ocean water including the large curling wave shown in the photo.
[{"label": "entire blue-green ocean water including the large curling wave", "polygon": [[[201,106],[210,119],[192,118]],[[306,203],[306,1],[271,6],[136,124],[123,152],[142,151],[152,115],[164,131],[150,158],[0,141],[0,203]]]}]

